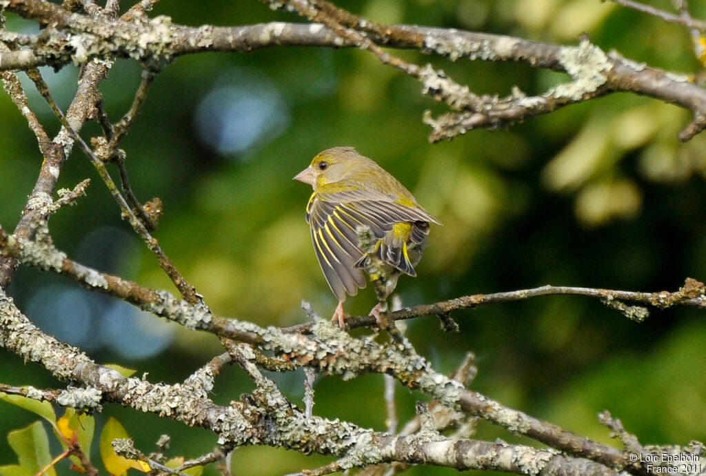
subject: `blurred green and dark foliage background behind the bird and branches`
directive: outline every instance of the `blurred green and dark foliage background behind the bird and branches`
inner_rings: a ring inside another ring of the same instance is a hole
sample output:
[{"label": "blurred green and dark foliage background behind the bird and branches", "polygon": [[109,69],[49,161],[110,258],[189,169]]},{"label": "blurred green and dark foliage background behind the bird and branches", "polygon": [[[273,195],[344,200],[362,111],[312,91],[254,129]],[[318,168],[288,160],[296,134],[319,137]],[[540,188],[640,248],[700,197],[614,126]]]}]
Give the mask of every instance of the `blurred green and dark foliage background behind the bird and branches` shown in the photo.
[{"label": "blurred green and dark foliage background behind the bird and branches", "polygon": [[[605,50],[670,71],[698,73],[689,32],[679,25],[598,0],[366,0],[338,5],[380,23],[417,23],[575,44],[587,33]],[[671,2],[654,1],[669,9]],[[706,18],[702,2],[693,13]],[[301,21],[257,1],[163,2],[154,14],[186,25]],[[8,28],[32,31],[8,15]],[[452,63],[418,52],[476,93],[506,95],[513,85],[537,94],[568,76],[523,64]],[[76,68],[44,71],[66,107]],[[101,90],[115,121],[129,107],[140,70],[117,61]],[[29,88],[31,91],[31,88]],[[421,85],[358,49],[277,47],[248,54],[177,59],[157,77],[123,143],[136,194],[159,196],[165,215],[156,237],[213,311],[261,325],[306,320],[307,299],[328,316],[335,299],[318,269],[304,222],[311,190],[292,182],[319,151],[354,145],[413,191],[443,227],[433,227],[418,268],[401,278],[405,305],[465,294],[544,284],[619,290],[676,290],[686,277],[706,279],[706,137],[681,144],[690,114],[636,95],[616,94],[498,131],[472,131],[430,144],[425,109],[443,112]],[[53,135],[58,122],[36,93],[30,102]],[[11,230],[37,177],[42,157],[25,121],[0,95],[0,223]],[[88,124],[83,136],[97,134]],[[115,174],[116,176],[116,174]],[[94,169],[74,153],[60,186],[92,179],[78,206],[50,221],[60,249],[77,261],[143,285],[173,290],[155,258],[119,219]],[[177,382],[222,352],[217,339],[185,331],[115,299],[35,269],[20,269],[9,289],[20,309],[45,331],[79,345],[101,363]],[[347,307],[374,304],[365,290]],[[597,422],[609,409],[643,444],[706,440],[706,320],[703,311],[653,312],[645,323],[581,297],[456,312],[460,333],[443,333],[436,318],[409,322],[408,335],[435,367],[452,371],[467,351],[477,355],[474,390],[578,434],[610,441]],[[303,375],[273,375],[301,402]],[[0,381],[64,385],[37,364],[0,350]],[[217,380],[227,404],[251,385],[235,368]],[[316,414],[384,429],[383,382],[318,379]],[[400,420],[424,395],[398,388]],[[215,446],[202,429],[105,405],[98,427],[118,418],[145,453],[172,436],[172,453],[187,458]],[[0,403],[0,465],[15,462],[4,438],[36,417]],[[486,439],[528,441],[479,424]],[[93,448],[93,459],[100,458]],[[57,450],[58,451],[58,450]],[[237,474],[273,475],[330,461],[273,448],[240,448]],[[61,470],[66,467],[60,467]],[[213,472],[209,473],[213,474]],[[417,468],[409,474],[455,474]]]}]

